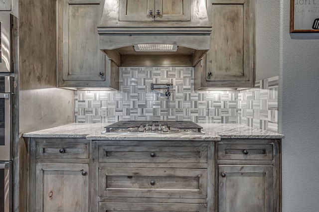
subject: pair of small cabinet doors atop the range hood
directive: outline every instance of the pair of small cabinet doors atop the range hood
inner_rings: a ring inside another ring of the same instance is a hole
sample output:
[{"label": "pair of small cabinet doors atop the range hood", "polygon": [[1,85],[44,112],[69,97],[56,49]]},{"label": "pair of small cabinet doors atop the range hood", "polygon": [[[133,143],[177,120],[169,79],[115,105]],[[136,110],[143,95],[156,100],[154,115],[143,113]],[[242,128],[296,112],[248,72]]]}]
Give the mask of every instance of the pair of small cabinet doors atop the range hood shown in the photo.
[{"label": "pair of small cabinet doors atop the range hood", "polygon": [[190,0],[120,0],[120,21],[190,21]]}]

